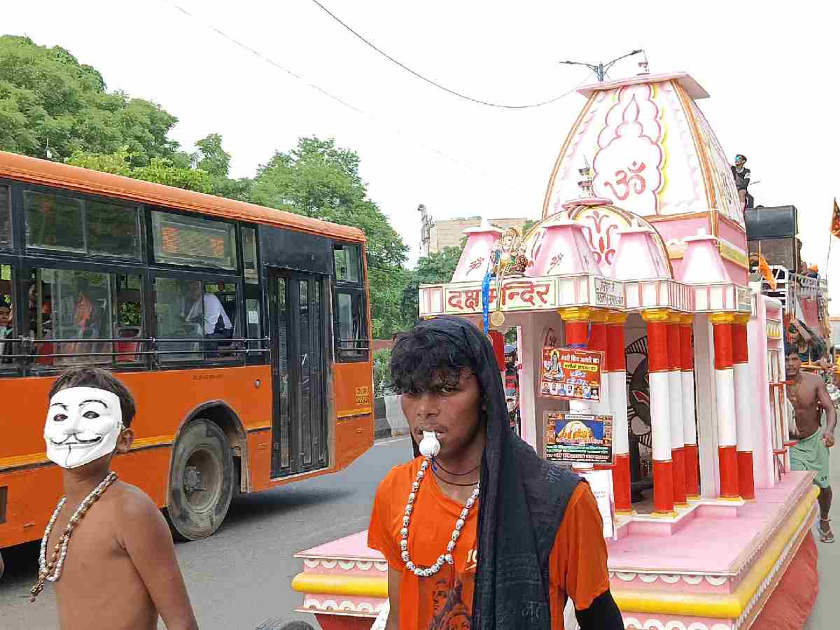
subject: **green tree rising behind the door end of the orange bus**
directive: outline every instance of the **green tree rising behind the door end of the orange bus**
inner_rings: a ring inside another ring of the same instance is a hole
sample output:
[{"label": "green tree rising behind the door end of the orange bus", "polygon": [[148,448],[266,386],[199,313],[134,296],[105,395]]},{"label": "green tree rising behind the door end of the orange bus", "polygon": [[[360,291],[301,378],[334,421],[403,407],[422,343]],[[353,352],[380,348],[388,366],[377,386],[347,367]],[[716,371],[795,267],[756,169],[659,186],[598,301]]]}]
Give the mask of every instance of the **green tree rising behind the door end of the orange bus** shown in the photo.
[{"label": "green tree rising behind the door end of the orange bus", "polygon": [[307,217],[360,228],[367,237],[370,308],[374,336],[390,337],[402,325],[407,245],[367,195],[359,155],[333,139],[302,138],[287,153],[261,165],[251,201]]}]

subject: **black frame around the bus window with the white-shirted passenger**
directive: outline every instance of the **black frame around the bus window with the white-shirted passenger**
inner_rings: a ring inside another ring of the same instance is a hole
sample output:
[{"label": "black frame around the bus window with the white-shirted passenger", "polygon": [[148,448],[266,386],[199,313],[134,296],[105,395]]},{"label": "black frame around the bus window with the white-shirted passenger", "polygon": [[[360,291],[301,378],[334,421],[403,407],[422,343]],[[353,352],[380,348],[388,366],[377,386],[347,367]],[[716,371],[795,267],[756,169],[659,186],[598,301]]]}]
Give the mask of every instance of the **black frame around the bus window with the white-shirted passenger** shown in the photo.
[{"label": "black frame around the bus window with the white-shirted passenger", "polygon": [[[202,288],[205,284],[214,284],[217,282],[224,282],[225,284],[235,284],[236,285],[236,312],[237,312],[237,319],[240,322],[240,333],[241,333],[241,322],[243,321],[243,311],[244,311],[244,279],[242,276],[232,276],[229,274],[205,274],[201,272],[186,272],[181,268],[180,271],[173,271],[169,269],[150,269],[149,270],[149,306],[150,308],[148,311],[150,312],[151,322],[150,325],[153,328],[150,328],[150,331],[153,332],[150,336],[153,339],[160,339],[160,335],[158,334],[157,328],[157,318],[155,317],[155,280],[157,278],[163,278],[165,280],[175,280],[175,281],[199,281],[202,283]],[[235,324],[234,324],[234,335],[235,335]],[[234,339],[244,339],[244,337],[237,338],[234,336]],[[154,344],[155,349],[158,350],[165,350],[166,349],[166,342],[162,344],[157,342]],[[206,346],[207,344],[202,344]],[[207,354],[207,353],[205,353]],[[162,360],[160,356],[153,356],[154,358],[154,367],[152,370],[185,370],[185,369],[200,369],[200,368],[222,368],[222,367],[235,367],[235,366],[243,366],[248,365],[246,361],[246,356],[248,353],[243,351],[237,351],[236,355],[234,356],[234,360],[223,360],[218,359],[214,360],[212,357],[210,359],[202,358],[202,359],[186,359],[186,360]],[[260,353],[260,354],[267,354],[267,353]]]}]

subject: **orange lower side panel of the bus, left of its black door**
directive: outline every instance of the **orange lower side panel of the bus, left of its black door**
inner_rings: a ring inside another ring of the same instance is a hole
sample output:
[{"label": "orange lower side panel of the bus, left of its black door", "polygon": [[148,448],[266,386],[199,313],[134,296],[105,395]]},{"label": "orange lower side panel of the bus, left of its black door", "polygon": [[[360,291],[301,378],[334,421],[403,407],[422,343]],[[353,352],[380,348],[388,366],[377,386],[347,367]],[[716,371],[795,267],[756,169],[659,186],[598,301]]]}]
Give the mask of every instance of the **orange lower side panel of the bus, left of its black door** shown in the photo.
[{"label": "orange lower side panel of the bus, left of its black door", "polygon": [[[222,401],[234,410],[244,431],[265,428],[255,435],[270,441],[271,372],[267,365],[117,376],[134,394],[137,416],[131,425],[134,446],[129,454],[114,459],[114,470],[160,507],[165,505],[176,432],[197,407]],[[49,377],[0,381],[3,398],[18,402],[18,412],[13,412],[15,407],[11,405],[7,413],[0,414],[0,435],[9,436],[0,440],[0,488],[7,488],[0,547],[39,538],[62,495],[60,469],[48,462],[44,446],[47,394],[53,381]],[[266,456],[249,458],[257,465],[249,470],[252,481],[265,483],[269,479],[270,449]]]}]

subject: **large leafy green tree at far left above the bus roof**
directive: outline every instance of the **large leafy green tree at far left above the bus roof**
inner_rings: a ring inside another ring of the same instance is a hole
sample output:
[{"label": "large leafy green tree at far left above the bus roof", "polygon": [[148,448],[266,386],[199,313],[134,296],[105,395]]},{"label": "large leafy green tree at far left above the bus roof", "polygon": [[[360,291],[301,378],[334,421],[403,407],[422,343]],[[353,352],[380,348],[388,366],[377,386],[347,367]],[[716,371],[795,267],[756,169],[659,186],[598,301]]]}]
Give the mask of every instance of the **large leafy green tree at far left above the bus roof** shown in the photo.
[{"label": "large leafy green tree at far left above the bus roof", "polygon": [[102,75],[60,46],[0,37],[0,150],[64,160],[129,147],[132,166],[171,158],[177,118],[159,105],[108,92]]}]

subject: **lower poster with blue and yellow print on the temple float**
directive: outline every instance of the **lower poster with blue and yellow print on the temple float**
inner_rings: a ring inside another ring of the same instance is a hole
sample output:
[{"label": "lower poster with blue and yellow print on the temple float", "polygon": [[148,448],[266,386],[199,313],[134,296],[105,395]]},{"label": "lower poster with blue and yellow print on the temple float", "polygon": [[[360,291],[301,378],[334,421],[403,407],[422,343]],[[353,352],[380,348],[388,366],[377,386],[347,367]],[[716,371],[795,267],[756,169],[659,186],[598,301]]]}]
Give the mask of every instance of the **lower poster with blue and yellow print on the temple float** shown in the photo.
[{"label": "lower poster with blue and yellow print on the temple float", "polygon": [[545,412],[545,459],[612,465],[612,415]]}]

